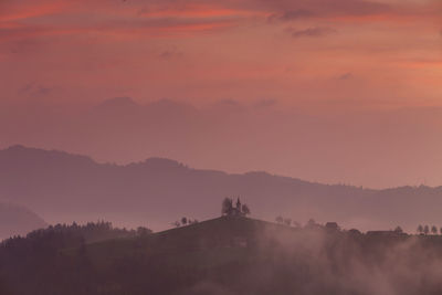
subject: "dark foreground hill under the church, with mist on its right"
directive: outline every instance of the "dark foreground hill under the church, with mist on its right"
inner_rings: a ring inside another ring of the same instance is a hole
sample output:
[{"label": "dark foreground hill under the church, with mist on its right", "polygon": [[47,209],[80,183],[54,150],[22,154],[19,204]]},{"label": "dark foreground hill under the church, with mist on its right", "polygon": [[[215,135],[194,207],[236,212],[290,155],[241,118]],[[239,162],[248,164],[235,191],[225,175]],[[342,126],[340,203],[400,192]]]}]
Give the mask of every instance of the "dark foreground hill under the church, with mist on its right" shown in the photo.
[{"label": "dark foreground hill under the church, with mist on its right", "polygon": [[441,236],[361,234],[320,225],[295,229],[245,218],[219,218],[95,243],[63,236],[69,238],[32,234],[3,243],[0,288],[7,293],[2,294],[442,292]]}]

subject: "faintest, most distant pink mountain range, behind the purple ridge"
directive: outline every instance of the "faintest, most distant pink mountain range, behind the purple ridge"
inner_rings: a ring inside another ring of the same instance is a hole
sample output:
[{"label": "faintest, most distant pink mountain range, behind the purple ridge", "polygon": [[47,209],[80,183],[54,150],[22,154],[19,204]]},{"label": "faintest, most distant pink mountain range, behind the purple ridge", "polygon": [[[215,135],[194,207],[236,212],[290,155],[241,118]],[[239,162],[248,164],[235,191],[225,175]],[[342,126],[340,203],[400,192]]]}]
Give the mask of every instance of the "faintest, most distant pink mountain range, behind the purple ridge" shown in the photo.
[{"label": "faintest, most distant pink mountain range, behind the purple ridge", "polygon": [[93,105],[2,106],[0,149],[21,144],[118,164],[166,157],[204,169],[265,170],[373,188],[442,183],[440,107],[323,117],[267,103],[116,97]]}]

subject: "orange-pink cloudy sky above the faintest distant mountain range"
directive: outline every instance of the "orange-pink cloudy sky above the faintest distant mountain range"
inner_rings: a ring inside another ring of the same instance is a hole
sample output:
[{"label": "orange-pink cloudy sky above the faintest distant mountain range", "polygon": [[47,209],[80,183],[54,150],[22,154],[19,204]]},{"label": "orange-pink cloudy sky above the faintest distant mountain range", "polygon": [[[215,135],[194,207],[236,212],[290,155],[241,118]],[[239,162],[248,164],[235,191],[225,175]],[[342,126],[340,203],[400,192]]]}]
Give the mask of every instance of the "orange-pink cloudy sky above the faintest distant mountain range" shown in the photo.
[{"label": "orange-pink cloudy sky above the faintest distant mountain range", "polygon": [[439,0],[2,0],[0,103],[436,107],[441,15]]}]

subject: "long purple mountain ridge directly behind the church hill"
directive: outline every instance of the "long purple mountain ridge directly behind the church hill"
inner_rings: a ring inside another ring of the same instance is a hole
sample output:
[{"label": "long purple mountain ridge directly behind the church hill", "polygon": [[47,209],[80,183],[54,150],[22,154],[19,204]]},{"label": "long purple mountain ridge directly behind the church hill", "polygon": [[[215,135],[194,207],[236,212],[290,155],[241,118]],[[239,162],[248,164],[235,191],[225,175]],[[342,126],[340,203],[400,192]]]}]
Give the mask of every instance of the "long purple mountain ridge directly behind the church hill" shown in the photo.
[{"label": "long purple mountain ridge directly behind the church hill", "polygon": [[104,219],[154,230],[182,215],[219,215],[220,202],[229,196],[241,196],[254,217],[266,220],[282,214],[302,223],[314,218],[345,228],[399,224],[410,231],[422,222],[442,223],[442,188],[371,190],[266,172],[191,169],[161,158],[118,166],[23,146],[0,151],[0,196],[36,210],[50,223]]}]

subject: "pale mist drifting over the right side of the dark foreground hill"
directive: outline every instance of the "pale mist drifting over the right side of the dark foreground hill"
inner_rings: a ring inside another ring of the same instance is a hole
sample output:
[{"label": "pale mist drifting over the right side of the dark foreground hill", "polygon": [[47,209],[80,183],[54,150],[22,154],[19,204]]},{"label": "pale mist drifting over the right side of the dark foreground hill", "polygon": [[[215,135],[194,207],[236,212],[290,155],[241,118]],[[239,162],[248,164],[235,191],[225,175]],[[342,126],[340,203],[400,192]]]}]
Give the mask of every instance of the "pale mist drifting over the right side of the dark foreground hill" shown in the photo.
[{"label": "pale mist drifting over the right side of the dark foreground hill", "polygon": [[393,233],[269,230],[253,267],[239,264],[243,272],[236,280],[225,285],[203,281],[188,294],[441,294],[441,242]]}]

